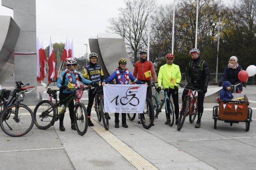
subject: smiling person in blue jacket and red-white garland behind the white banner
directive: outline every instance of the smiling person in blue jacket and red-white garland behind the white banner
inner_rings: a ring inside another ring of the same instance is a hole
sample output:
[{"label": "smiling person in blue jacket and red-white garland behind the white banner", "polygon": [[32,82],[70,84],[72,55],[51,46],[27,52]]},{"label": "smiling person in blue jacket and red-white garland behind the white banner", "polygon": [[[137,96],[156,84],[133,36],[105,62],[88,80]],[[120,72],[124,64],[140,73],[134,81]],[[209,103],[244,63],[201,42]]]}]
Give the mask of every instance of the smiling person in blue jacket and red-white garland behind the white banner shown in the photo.
[{"label": "smiling person in blue jacket and red-white garland behind the white banner", "polygon": [[[119,67],[102,83],[105,85],[116,80],[117,84],[128,84],[129,80],[135,82],[136,84],[146,84],[142,81],[137,80],[132,73],[126,68],[127,60],[125,58],[120,58],[118,60]],[[122,113],[122,127],[128,128],[126,124],[126,113]],[[115,113],[115,128],[119,128],[119,113]]]}]

